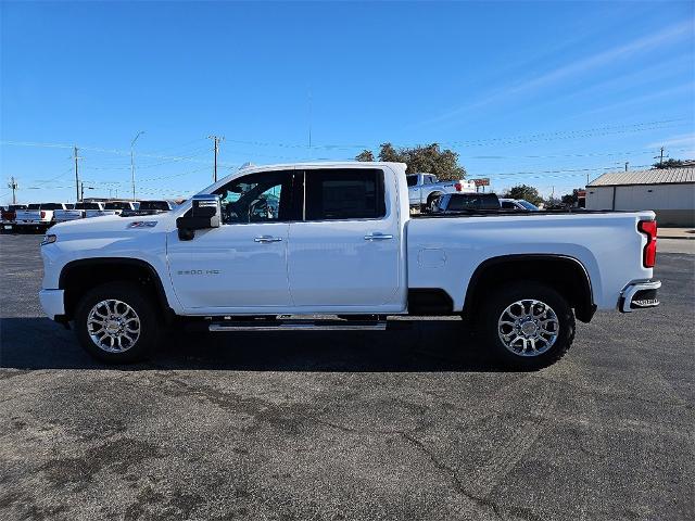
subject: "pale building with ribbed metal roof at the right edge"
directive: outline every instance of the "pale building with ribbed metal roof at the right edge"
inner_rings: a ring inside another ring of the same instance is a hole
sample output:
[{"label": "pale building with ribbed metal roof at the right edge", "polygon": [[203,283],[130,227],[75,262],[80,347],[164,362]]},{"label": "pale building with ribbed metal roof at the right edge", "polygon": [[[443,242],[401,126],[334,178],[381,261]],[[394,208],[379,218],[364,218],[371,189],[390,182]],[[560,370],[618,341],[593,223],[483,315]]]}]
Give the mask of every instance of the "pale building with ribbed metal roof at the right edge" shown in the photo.
[{"label": "pale building with ribbed metal roof at the right edge", "polygon": [[604,174],[586,187],[586,209],[653,209],[659,225],[695,226],[695,167]]}]

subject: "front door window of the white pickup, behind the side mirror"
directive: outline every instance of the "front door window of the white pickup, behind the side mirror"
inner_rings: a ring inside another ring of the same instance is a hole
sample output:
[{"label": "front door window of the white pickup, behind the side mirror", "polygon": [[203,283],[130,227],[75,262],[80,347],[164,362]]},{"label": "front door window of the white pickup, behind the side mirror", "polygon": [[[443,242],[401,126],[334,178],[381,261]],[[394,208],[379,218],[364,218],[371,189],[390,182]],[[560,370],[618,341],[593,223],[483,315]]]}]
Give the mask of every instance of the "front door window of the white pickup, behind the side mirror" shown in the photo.
[{"label": "front door window of the white pickup, behind the side mirror", "polygon": [[249,174],[215,191],[225,225],[292,220],[292,171]]}]

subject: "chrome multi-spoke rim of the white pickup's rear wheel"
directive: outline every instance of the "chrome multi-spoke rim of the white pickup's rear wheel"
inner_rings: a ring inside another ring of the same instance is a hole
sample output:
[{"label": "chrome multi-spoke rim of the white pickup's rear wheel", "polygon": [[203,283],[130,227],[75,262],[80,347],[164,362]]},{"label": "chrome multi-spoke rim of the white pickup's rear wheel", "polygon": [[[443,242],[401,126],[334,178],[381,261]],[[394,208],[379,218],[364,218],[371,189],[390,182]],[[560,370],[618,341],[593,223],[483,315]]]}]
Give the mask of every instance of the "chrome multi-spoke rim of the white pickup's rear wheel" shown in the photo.
[{"label": "chrome multi-spoke rim of the white pickup's rear wheel", "polygon": [[526,298],[510,304],[497,320],[504,346],[518,356],[539,356],[553,347],[560,323],[551,306]]}]

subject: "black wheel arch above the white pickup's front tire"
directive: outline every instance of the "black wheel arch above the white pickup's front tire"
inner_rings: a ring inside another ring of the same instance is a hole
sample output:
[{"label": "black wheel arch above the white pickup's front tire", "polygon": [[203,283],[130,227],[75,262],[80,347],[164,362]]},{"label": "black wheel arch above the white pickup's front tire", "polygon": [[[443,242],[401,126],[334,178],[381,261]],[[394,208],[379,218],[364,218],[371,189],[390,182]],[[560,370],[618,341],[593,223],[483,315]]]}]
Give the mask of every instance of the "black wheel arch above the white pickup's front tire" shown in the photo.
[{"label": "black wheel arch above the white pickup's front tire", "polygon": [[93,257],[72,260],[61,269],[58,287],[65,292],[65,319],[74,317],[85,292],[98,284],[121,280],[137,283],[153,297],[162,318],[168,321],[174,317],[162,279],[150,263],[139,258]]}]

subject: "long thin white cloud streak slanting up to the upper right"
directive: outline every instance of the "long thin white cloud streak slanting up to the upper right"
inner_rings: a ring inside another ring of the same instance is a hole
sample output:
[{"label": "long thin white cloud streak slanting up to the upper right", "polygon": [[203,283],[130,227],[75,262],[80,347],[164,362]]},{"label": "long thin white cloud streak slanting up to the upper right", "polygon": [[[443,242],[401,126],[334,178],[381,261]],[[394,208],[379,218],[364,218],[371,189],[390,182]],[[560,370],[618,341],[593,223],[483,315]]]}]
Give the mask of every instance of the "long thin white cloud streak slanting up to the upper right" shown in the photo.
[{"label": "long thin white cloud streak slanting up to the upper right", "polygon": [[554,71],[549,71],[536,77],[502,87],[492,92],[490,96],[482,98],[481,100],[458,106],[424,123],[441,123],[454,118],[471,109],[480,107],[495,101],[506,99],[514,94],[519,94],[530,90],[538,90],[545,87],[546,85],[563,80],[567,77],[577,76],[593,68],[599,68],[606,65],[610,65],[615,63],[616,60],[628,58],[637,52],[650,51],[664,46],[665,43],[677,40],[684,35],[691,35],[692,30],[693,21],[687,20],[685,22],[672,25],[657,34],[637,38],[636,40],[633,40],[623,46],[608,49],[592,56],[587,56],[573,63],[563,65]]}]

